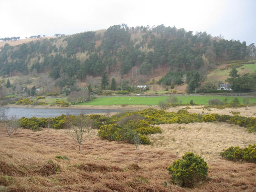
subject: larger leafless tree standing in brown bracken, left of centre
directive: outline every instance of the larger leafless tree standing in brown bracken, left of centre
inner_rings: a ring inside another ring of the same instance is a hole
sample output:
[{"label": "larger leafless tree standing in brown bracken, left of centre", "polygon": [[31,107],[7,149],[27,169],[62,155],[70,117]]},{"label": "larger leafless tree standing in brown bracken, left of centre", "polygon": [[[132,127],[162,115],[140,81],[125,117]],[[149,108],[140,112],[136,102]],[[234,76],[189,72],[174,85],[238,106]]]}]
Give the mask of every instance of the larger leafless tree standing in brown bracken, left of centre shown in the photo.
[{"label": "larger leafless tree standing in brown bracken, left of centre", "polygon": [[81,152],[81,143],[90,136],[92,122],[93,120],[80,114],[75,118],[73,125],[70,127],[69,135],[79,144],[79,154]]}]

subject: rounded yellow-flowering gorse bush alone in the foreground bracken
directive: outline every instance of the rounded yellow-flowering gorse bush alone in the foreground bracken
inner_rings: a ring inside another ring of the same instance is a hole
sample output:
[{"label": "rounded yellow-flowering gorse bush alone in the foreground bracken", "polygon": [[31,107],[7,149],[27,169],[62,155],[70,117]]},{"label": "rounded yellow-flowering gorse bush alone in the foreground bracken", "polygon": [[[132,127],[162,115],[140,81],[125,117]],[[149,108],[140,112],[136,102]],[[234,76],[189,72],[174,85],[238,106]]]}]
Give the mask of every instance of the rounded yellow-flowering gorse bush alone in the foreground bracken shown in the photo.
[{"label": "rounded yellow-flowering gorse bush alone in the foreground bracken", "polygon": [[174,161],[167,170],[172,175],[173,182],[182,187],[192,187],[196,183],[208,179],[207,163],[192,152],[186,152],[182,156],[182,160]]}]

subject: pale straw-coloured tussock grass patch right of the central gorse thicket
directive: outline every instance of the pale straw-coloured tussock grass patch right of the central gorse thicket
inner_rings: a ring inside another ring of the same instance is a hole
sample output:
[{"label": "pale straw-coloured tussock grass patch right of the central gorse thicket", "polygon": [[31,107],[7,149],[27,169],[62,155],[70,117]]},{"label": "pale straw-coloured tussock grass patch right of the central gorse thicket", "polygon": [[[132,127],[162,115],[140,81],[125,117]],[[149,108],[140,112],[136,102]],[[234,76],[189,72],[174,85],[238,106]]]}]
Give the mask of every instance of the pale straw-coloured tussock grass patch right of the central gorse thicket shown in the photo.
[{"label": "pale straw-coloured tussock grass patch right of the central gorse thicket", "polygon": [[162,134],[149,137],[154,147],[179,155],[191,151],[201,155],[204,160],[213,162],[225,148],[244,148],[256,141],[256,133],[251,134],[243,127],[222,122],[164,124],[160,128]]}]

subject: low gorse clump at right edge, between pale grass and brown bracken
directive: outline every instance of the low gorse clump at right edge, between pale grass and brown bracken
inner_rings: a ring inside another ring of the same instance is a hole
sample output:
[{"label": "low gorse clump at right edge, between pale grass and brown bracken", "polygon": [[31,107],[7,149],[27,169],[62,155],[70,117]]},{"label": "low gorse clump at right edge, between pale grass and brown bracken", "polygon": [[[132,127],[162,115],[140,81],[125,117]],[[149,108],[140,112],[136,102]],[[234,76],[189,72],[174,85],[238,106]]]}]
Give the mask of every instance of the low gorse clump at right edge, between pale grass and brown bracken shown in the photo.
[{"label": "low gorse clump at right edge, between pale grass and brown bracken", "polygon": [[249,145],[243,149],[238,146],[231,146],[230,148],[223,150],[220,155],[227,160],[245,160],[248,162],[256,163],[256,144]]}]

